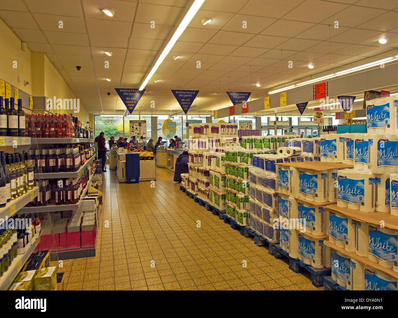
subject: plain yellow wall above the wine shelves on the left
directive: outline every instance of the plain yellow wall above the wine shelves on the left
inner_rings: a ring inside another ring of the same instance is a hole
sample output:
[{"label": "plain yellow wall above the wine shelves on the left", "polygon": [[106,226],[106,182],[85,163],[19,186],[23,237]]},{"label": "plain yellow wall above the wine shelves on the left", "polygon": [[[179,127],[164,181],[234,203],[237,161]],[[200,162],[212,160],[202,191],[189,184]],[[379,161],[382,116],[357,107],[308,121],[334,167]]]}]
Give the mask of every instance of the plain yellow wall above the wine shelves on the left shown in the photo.
[{"label": "plain yellow wall above the wine shelves on the left", "polygon": [[[0,19],[0,78],[32,96],[48,98],[76,98],[58,70],[45,53],[31,53],[21,50],[21,41]],[[14,69],[13,61],[17,61]],[[18,82],[18,75],[20,82]],[[29,82],[24,86],[23,81]],[[80,103],[80,112],[75,113],[82,122],[90,120],[89,114]],[[92,124],[90,122],[90,124]]]}]

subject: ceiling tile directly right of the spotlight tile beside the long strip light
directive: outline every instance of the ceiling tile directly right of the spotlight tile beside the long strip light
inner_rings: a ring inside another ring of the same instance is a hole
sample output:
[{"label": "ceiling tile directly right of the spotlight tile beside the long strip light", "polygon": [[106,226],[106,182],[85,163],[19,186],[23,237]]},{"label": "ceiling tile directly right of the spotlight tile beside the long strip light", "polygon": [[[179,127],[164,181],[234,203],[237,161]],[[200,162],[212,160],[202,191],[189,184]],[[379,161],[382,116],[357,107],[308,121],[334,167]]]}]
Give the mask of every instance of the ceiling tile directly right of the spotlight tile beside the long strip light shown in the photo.
[{"label": "ceiling tile directly right of the spotlight tile beside the long strip light", "polygon": [[277,19],[237,14],[222,30],[258,34],[275,21]]}]

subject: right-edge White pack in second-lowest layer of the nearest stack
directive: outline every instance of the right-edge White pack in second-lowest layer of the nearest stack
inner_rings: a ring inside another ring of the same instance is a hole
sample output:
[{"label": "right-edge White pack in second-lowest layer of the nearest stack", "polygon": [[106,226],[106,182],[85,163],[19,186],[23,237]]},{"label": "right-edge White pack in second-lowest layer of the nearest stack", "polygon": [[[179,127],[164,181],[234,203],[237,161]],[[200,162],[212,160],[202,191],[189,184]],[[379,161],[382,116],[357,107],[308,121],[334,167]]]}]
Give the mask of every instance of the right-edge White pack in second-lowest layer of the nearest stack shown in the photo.
[{"label": "right-edge White pack in second-lowest layer of the nearest stack", "polygon": [[398,272],[398,266],[396,265],[398,259],[397,250],[397,231],[369,225],[368,258],[371,261]]}]

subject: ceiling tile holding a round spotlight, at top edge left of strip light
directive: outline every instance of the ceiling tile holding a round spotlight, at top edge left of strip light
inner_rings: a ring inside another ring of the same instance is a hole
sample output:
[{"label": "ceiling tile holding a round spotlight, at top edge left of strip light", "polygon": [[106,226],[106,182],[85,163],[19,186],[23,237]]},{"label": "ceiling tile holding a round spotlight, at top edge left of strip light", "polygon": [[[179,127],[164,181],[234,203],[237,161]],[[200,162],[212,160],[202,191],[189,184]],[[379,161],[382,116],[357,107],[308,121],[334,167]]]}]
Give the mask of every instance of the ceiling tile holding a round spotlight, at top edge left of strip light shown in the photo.
[{"label": "ceiling tile holding a round spotlight, at top edge left of strip light", "polygon": [[[136,2],[119,0],[82,0],[86,18],[103,19],[111,21],[132,22],[135,14]],[[111,8],[116,10],[113,17],[109,17],[101,10]]]}]

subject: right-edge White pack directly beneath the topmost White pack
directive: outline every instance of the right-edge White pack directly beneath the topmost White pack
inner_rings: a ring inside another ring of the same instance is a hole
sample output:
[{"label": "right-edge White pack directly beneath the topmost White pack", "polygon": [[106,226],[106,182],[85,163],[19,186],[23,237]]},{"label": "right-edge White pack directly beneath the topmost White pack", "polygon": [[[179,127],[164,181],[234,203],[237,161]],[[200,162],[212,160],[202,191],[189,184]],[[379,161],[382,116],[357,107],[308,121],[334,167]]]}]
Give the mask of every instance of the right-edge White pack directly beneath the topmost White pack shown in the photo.
[{"label": "right-edge White pack directly beneath the topmost White pack", "polygon": [[369,171],[377,174],[398,172],[397,134],[369,135]]}]

